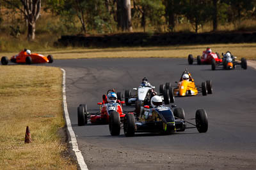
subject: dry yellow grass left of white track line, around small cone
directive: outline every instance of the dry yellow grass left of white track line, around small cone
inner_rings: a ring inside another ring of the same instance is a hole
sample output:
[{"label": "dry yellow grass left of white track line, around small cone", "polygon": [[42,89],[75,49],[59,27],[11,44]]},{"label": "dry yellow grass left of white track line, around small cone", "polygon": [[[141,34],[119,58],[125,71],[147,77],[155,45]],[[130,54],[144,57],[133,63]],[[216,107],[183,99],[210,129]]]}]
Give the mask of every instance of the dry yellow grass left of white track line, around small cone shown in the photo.
[{"label": "dry yellow grass left of white track line, around small cone", "polygon": [[[63,157],[61,71],[0,66],[0,169],[76,169]],[[33,143],[24,144],[26,126]]]}]

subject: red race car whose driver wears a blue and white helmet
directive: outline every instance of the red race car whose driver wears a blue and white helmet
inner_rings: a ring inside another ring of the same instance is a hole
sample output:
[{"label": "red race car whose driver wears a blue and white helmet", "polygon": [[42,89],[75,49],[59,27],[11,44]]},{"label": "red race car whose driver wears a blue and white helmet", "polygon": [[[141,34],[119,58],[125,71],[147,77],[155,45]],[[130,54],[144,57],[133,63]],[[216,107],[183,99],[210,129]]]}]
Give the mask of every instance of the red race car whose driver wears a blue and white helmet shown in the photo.
[{"label": "red race car whose driver wears a blue and white helmet", "polygon": [[[118,92],[119,95],[120,92]],[[100,110],[97,113],[89,113],[86,104],[80,104],[77,107],[77,122],[78,125],[87,124],[90,120],[91,124],[109,124],[109,130],[113,129],[113,126],[121,126],[124,120],[125,113],[123,111],[122,104],[124,101],[120,101],[115,94],[115,90],[108,90],[107,96],[104,94],[102,96],[102,102],[97,103],[100,105]],[[95,111],[95,110],[91,110]],[[109,122],[109,117],[115,117],[116,122]],[[118,128],[114,128],[118,129]],[[111,135],[119,135],[120,131],[112,131]]]}]

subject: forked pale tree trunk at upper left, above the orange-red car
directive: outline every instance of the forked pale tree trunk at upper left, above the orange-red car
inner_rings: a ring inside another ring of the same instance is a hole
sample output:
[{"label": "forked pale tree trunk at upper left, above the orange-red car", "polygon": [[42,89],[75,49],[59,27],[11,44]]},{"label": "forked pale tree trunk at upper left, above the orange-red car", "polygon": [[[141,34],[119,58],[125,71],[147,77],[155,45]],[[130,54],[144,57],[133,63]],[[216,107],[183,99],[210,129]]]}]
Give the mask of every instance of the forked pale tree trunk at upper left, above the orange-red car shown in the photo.
[{"label": "forked pale tree trunk at upper left, above the orange-red car", "polygon": [[8,1],[3,0],[5,3],[10,4],[20,10],[26,20],[28,21],[28,40],[35,39],[35,31],[36,31],[36,20],[38,20],[40,16],[41,10],[41,0],[20,0],[19,1]]}]

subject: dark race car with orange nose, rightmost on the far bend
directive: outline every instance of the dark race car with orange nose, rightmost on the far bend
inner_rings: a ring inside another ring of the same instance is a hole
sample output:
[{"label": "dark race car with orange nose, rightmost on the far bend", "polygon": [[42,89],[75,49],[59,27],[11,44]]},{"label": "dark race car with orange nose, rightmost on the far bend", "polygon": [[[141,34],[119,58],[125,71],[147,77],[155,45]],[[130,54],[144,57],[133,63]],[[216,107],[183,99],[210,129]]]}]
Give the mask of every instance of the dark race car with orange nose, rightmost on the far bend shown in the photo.
[{"label": "dark race car with orange nose, rightmost on the far bend", "polygon": [[215,62],[215,60],[212,60],[212,70],[215,70],[216,67],[223,66],[223,69],[235,69],[237,66],[241,66],[243,69],[247,69],[247,61],[246,59],[242,58],[241,62],[237,62],[234,55],[231,54],[231,52],[226,52],[223,54],[223,62]]}]

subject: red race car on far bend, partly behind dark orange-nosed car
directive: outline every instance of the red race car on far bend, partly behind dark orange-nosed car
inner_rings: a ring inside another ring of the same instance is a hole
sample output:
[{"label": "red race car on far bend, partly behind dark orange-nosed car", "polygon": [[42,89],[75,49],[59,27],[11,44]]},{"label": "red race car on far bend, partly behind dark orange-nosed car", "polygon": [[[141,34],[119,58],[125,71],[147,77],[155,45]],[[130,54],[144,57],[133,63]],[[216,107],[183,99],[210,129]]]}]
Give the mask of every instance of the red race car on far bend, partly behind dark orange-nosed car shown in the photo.
[{"label": "red race car on far bend, partly behind dark orange-nosed car", "polygon": [[[207,47],[206,50],[203,52],[202,56],[198,55],[196,58],[196,62],[198,65],[200,64],[211,64],[212,59],[215,60],[216,63],[221,63],[222,59],[219,53],[213,53],[211,48]],[[194,58],[192,54],[188,55],[188,64],[193,64]]]}]

